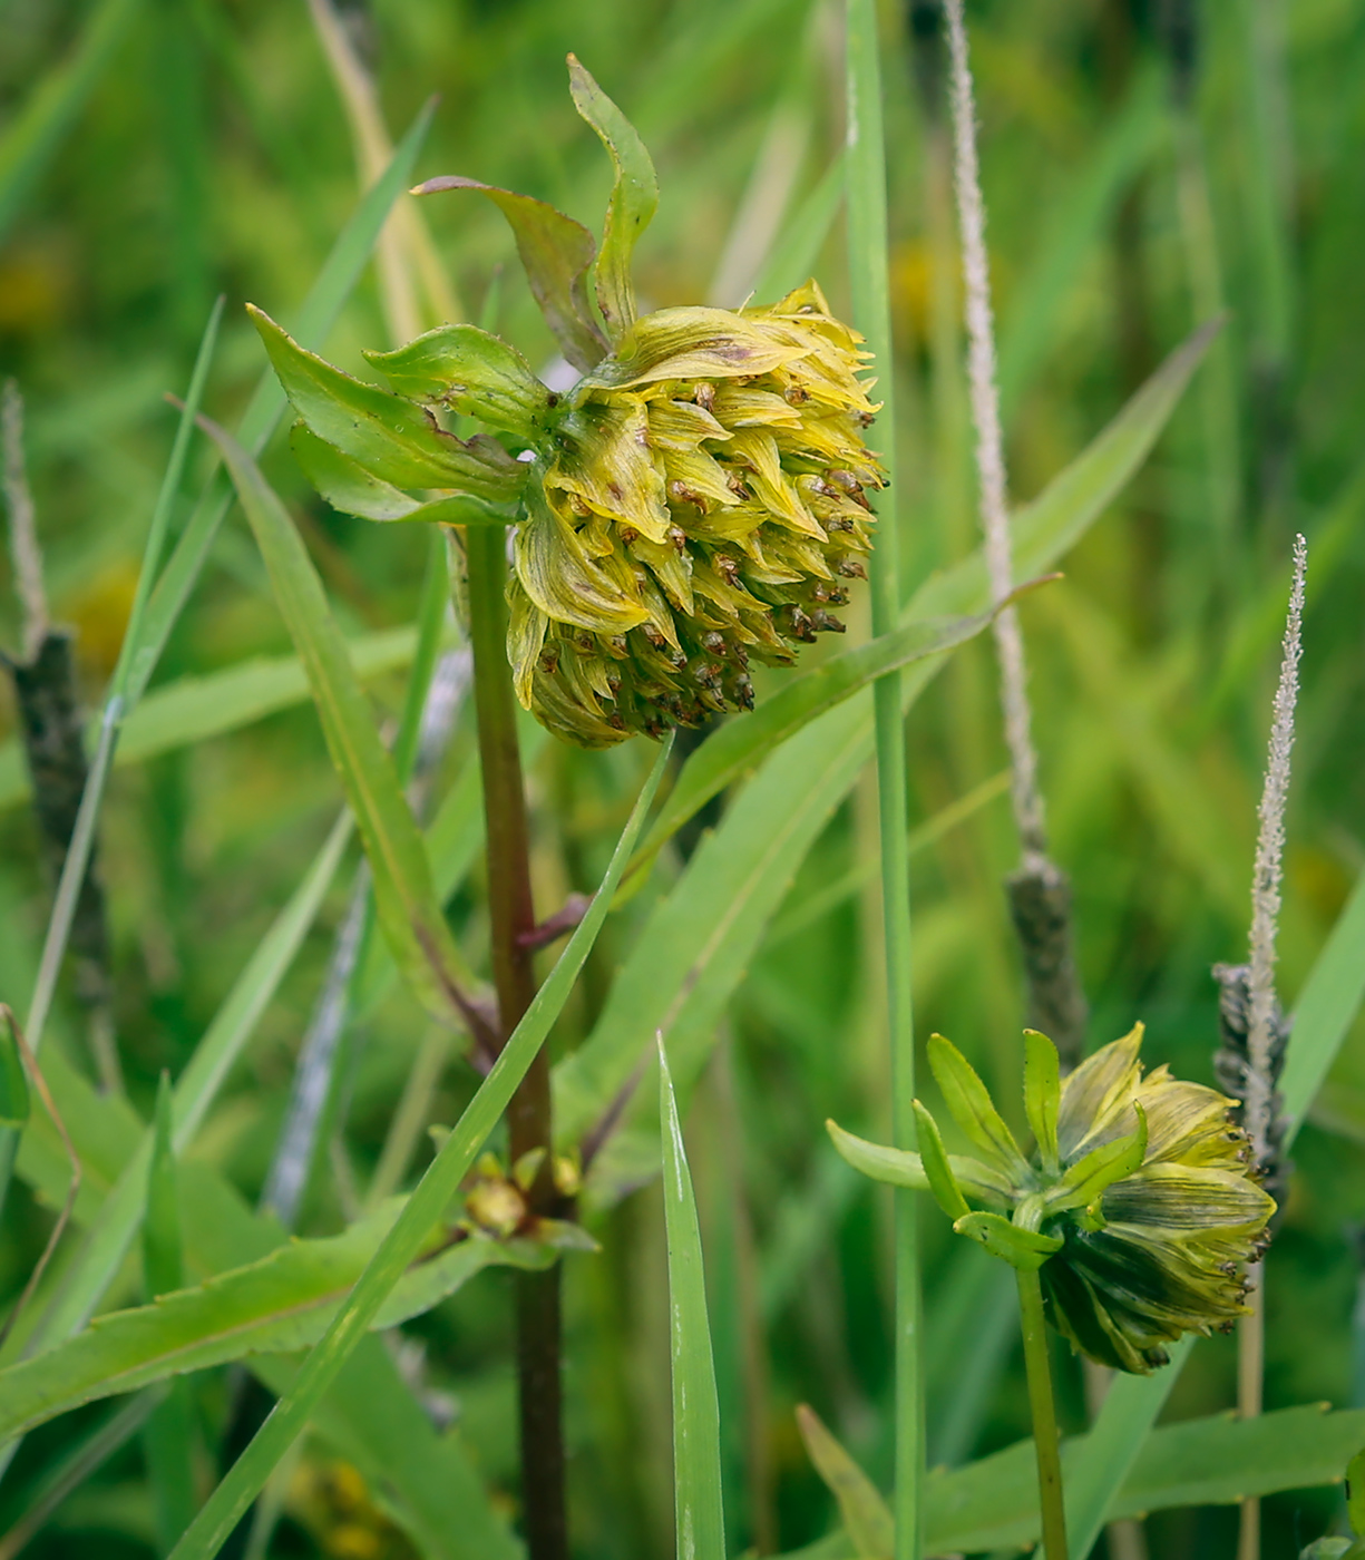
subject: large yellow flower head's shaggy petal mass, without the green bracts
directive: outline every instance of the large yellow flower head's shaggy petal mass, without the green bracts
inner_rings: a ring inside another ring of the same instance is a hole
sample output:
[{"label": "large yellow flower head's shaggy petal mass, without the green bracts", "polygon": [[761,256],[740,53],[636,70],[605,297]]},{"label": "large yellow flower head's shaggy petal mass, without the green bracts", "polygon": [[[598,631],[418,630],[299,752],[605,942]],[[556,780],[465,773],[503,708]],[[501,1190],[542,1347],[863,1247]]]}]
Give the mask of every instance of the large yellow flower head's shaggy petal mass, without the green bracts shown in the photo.
[{"label": "large yellow flower head's shaggy petal mass, without the green bracts", "polygon": [[571,392],[509,590],[516,691],[544,725],[605,747],[747,710],[753,661],[842,632],[883,485],[860,342],[808,282],[646,315]]}]

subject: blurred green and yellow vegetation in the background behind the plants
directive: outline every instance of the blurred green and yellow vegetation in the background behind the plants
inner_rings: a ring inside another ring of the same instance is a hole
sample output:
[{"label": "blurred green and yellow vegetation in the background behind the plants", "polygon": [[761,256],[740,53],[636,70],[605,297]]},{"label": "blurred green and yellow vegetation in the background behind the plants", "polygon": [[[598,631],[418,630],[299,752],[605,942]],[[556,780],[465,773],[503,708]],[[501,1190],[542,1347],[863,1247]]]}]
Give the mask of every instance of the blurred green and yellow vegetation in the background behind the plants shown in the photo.
[{"label": "blurred green and yellow vegetation in the background behind the plants", "polygon": [[[1365,5],[1360,0],[986,0],[970,8],[1011,490],[1039,491],[1161,357],[1228,312],[1220,343],[1154,457],[1023,608],[1055,853],[1073,875],[1092,1042],[1148,1025],[1150,1061],[1212,1081],[1209,966],[1245,952],[1251,850],[1295,530],[1309,541],[1309,612],[1290,810],[1281,994],[1292,1005],[1365,866]],[[738,304],[774,246],[813,265],[847,310],[842,226],[822,226],[841,145],[841,17],[825,0],[371,0],[345,20],[390,131],[440,94],[420,176],[463,173],[555,203],[596,228],[610,170],[577,120],[577,53],[632,117],[663,201],[638,251],[649,306]],[[939,14],[883,8],[897,326],[897,518],[906,585],[975,546],[970,426]],[[84,53],[83,53],[84,51]],[[75,78],[47,142],[25,114]],[[264,354],[242,312],[289,324],[357,198],[346,114],[304,0],[0,0],[0,367],[28,402],[27,454],[55,616],[75,626],[95,702],[117,655],[148,515],[207,310],[226,293],[209,410],[245,404]],[[6,161],[8,159],[8,161]],[[552,343],[479,203],[424,215],[466,317],[491,318],[537,365]],[[813,226],[814,223],[814,226]],[[491,290],[491,293],[490,293]],[[359,370],[388,342],[373,268],[328,356]],[[880,371],[888,371],[880,365]],[[886,437],[885,431],[878,432]],[[203,454],[203,452],[200,452]],[[282,441],[267,471],[292,504],[348,633],[412,621],[426,537],[329,510]],[[885,510],[883,510],[885,512]],[[866,632],[866,622],[853,627]],[[19,641],[9,591],[0,636]],[[240,516],[225,527],[158,682],[287,655]],[[390,666],[370,683],[401,707]],[[5,685],[0,725],[14,714]],[[462,718],[441,771],[470,755]],[[591,889],[649,753],[544,743],[532,766],[543,911]],[[1020,973],[1000,881],[1016,856],[998,782],[991,647],[958,652],[909,721],[913,817],[964,797],[967,816],[914,858],[917,1022],[942,1030],[1002,1100],[1017,1100]],[[12,789],[12,788],[11,788]],[[300,704],[120,769],[101,835],[115,1026],[128,1094],[150,1111],[312,860],[340,800]],[[22,1011],[50,885],[31,816],[0,814],[0,997]],[[860,788],[796,872],[724,1017],[688,1131],[702,1200],[721,1374],[733,1548],[794,1549],[830,1526],[792,1409],[808,1401],[889,1479],[889,1204],[828,1148],[836,1115],[885,1133],[874,858]],[[686,849],[686,841],[683,842]],[[663,863],[668,880],[680,855]],[[849,880],[849,874],[853,878]],[[831,897],[830,885],[849,892]],[[346,892],[265,1014],[193,1148],[259,1197]],[[479,867],[451,905],[482,958]],[[607,936],[555,1044],[591,1025],[644,900]],[[81,1019],[56,1039],[80,1065]],[[390,995],[353,1025],[335,1148],[303,1229],[326,1232],[349,1178],[373,1170],[424,1025]],[[429,1117],[451,1122],[474,1075],[451,1064]],[[1353,1331],[1365,1226],[1365,1047],[1354,1033],[1314,1125],[1270,1259],[1270,1407],[1365,1406]],[[337,1170],[339,1161],[342,1168]],[[48,1214],[16,1192],[0,1279],[17,1293]],[[591,1228],[568,1267],[571,1482],[577,1548],[594,1560],[671,1546],[668,1314],[661,1209],[646,1186]],[[1026,1434],[1012,1314],[963,1301],[970,1265],[928,1228],[930,1423],[936,1457],[966,1460]],[[477,1462],[515,1499],[509,1289],[502,1273],[409,1328],[426,1376]],[[955,1289],[955,1285],[958,1285]],[[987,1296],[989,1299],[989,1296]],[[1168,1418],[1234,1398],[1236,1348],[1198,1348]],[[1080,1370],[1058,1353],[1062,1413],[1084,1424]],[[228,1423],[201,1382],[204,1468]],[[80,1415],[75,1416],[80,1423]],[[0,1485],[0,1527],[61,1455],[72,1421],[25,1446]],[[1332,1491],[1268,1502],[1267,1554],[1323,1529]],[[357,1485],[310,1449],[271,1554],[406,1555]],[[59,1510],[34,1555],[144,1555],[150,1504],[133,1441]],[[1232,1552],[1228,1509],[1148,1523],[1162,1560]],[[349,1548],[348,1548],[349,1546]]]}]

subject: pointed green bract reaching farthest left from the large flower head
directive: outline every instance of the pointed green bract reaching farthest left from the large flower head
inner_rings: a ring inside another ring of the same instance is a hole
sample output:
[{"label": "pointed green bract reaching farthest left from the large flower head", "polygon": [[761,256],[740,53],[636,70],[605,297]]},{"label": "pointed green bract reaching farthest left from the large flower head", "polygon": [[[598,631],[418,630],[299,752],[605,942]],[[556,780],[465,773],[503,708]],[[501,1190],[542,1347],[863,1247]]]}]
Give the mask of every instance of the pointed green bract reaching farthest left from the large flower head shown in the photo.
[{"label": "pointed green bract reaching farthest left from the large flower head", "polygon": [[268,314],[246,304],[295,412],[381,482],[459,488],[495,504],[515,502],[526,468],[491,438],[448,434],[426,407],[343,374],[309,353]]}]

